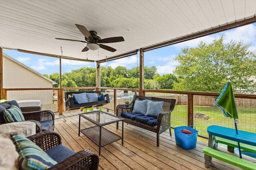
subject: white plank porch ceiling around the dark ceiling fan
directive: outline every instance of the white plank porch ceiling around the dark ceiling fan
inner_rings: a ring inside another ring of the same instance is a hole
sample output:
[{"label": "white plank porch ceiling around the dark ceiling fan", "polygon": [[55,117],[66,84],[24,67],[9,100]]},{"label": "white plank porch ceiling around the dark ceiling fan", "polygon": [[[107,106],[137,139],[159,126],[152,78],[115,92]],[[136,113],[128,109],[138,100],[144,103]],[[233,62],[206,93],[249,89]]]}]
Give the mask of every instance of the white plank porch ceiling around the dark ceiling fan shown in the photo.
[{"label": "white plank porch ceiling around the dark ceiling fan", "polygon": [[[256,22],[255,0],[1,0],[0,47],[81,61],[105,62]],[[117,49],[81,52],[75,24]]]}]

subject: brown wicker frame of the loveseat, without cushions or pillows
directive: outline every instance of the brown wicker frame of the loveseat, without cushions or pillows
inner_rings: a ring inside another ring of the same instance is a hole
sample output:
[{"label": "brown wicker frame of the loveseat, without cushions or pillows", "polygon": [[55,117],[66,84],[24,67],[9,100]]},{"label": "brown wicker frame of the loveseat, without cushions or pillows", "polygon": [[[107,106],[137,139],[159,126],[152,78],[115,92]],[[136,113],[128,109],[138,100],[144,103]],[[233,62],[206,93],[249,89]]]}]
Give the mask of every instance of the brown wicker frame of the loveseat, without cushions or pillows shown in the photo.
[{"label": "brown wicker frame of the loveseat, without cushions or pillows", "polygon": [[[159,115],[157,117],[157,126],[153,127],[153,126],[146,125],[146,124],[140,123],[138,121],[133,121],[131,119],[124,118],[121,116],[121,113],[132,112],[133,107],[134,107],[134,102],[136,100],[142,101],[145,99],[155,101],[155,102],[164,101],[163,107],[162,107],[162,113],[159,113]],[[126,123],[129,123],[131,125],[134,125],[134,126],[137,126],[140,128],[144,128],[146,130],[150,130],[152,132],[156,132],[156,145],[159,146],[159,134],[170,129],[170,136],[172,136],[170,120],[171,120],[171,112],[174,109],[175,102],[176,102],[176,99],[162,99],[162,98],[157,98],[157,97],[145,97],[145,96],[135,95],[134,98],[132,99],[131,103],[125,104],[125,105],[118,105],[116,107],[116,116],[124,118],[125,119],[124,122],[126,122]],[[118,123],[116,123],[116,128],[118,129]]]}]

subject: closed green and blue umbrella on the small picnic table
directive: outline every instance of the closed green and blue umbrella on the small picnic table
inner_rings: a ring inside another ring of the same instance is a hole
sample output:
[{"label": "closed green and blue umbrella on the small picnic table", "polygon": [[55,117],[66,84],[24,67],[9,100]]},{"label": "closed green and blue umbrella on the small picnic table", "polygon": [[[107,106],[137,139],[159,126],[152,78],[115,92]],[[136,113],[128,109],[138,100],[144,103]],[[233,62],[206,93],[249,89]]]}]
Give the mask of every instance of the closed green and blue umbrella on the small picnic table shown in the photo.
[{"label": "closed green and blue umbrella on the small picnic table", "polygon": [[[224,116],[234,119],[236,134],[238,134],[237,125],[236,125],[238,123],[238,120],[236,120],[238,119],[238,112],[237,112],[235,96],[234,96],[234,92],[233,92],[230,80],[228,80],[225,88],[220,93],[214,105],[218,106],[222,110]],[[239,149],[239,156],[240,158],[242,158],[239,142],[238,142],[238,149]]]}]

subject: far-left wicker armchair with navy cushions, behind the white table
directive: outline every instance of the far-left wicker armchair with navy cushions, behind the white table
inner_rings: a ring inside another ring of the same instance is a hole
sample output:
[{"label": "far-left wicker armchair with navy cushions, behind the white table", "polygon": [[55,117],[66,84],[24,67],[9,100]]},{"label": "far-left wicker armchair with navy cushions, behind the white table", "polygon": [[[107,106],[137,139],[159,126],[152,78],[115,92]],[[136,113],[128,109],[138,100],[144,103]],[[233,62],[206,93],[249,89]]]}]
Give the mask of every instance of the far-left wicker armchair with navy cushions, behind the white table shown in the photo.
[{"label": "far-left wicker armchair with navy cushions, behind the white table", "polygon": [[[19,107],[15,100],[0,103],[0,125],[6,123],[4,120],[4,109],[9,109],[12,105]],[[36,123],[37,133],[42,132],[42,130],[54,130],[54,113],[52,111],[44,110],[22,112],[22,114],[25,118],[25,121],[32,121]]]}]

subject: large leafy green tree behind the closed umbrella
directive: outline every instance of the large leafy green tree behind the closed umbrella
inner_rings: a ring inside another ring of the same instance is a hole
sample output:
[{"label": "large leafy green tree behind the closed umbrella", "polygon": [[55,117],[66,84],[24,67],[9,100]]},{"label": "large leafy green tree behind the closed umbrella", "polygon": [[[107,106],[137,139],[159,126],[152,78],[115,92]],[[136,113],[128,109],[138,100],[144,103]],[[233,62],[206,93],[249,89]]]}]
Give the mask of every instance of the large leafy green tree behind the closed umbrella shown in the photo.
[{"label": "large leafy green tree behind the closed umbrella", "polygon": [[174,73],[178,82],[174,90],[221,92],[227,79],[233,89],[255,89],[250,77],[256,75],[256,56],[249,50],[251,44],[231,40],[223,42],[223,36],[209,45],[200,42],[196,48],[184,48],[175,58],[179,65]]}]

